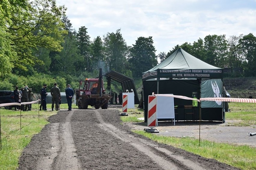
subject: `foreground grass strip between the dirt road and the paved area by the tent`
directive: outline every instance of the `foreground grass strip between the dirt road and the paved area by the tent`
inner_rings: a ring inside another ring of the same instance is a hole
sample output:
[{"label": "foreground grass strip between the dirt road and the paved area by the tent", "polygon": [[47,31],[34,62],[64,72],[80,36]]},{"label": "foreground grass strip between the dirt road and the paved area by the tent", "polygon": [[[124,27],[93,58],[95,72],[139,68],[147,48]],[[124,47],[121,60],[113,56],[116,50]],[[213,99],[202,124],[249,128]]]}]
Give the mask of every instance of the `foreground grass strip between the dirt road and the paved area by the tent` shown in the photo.
[{"label": "foreground grass strip between the dirt road and the paved area by the tent", "polygon": [[237,146],[226,143],[210,142],[191,137],[160,136],[145,131],[134,131],[158,143],[172,145],[185,151],[192,152],[205,158],[212,158],[243,170],[256,169],[256,148]]}]

